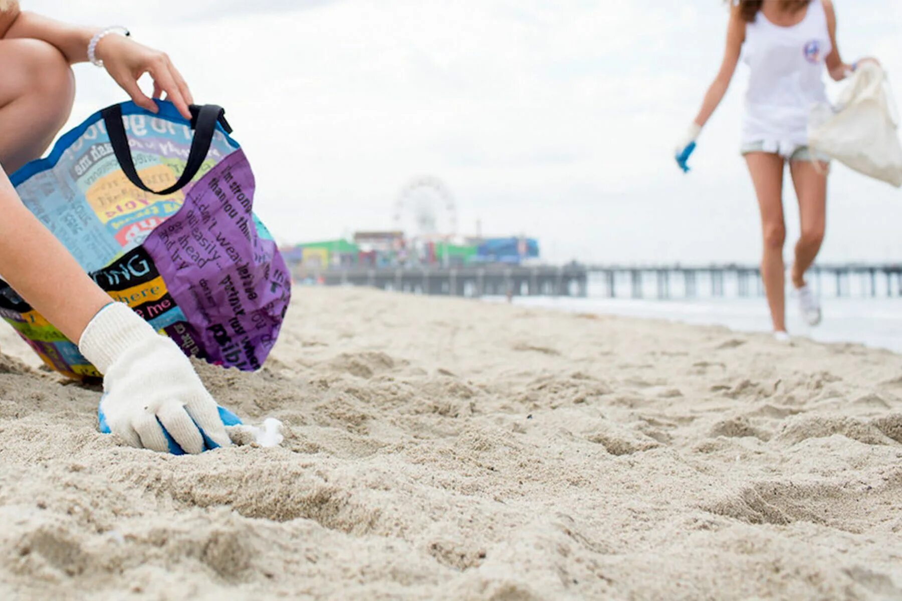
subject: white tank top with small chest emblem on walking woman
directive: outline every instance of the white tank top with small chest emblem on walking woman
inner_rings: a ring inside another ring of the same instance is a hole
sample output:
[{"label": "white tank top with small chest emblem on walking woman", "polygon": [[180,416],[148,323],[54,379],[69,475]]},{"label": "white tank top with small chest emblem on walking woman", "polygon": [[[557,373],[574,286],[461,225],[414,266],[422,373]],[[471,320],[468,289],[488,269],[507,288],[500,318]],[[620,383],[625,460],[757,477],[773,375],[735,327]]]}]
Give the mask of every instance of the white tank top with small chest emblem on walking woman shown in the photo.
[{"label": "white tank top with small chest emblem on walking woman", "polygon": [[761,12],[746,23],[743,60],[751,68],[745,95],[742,143],[789,156],[807,144],[812,105],[827,102],[824,59],[833,50],[821,0],[790,27],[770,23]]}]

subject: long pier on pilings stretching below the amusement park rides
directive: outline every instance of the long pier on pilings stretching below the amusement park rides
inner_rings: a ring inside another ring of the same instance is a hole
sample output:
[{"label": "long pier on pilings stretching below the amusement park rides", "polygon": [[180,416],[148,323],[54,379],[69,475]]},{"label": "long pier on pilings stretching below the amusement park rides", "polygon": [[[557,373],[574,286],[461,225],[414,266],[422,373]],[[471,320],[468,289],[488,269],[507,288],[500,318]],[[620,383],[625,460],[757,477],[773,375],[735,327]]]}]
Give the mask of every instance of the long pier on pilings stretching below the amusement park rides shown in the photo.
[{"label": "long pier on pilings stretching below the amusement park rides", "polygon": [[[763,296],[754,266],[467,265],[290,269],[296,282],[367,286],[446,296],[603,296],[680,299]],[[817,265],[809,285],[824,296],[902,296],[902,263]]]}]

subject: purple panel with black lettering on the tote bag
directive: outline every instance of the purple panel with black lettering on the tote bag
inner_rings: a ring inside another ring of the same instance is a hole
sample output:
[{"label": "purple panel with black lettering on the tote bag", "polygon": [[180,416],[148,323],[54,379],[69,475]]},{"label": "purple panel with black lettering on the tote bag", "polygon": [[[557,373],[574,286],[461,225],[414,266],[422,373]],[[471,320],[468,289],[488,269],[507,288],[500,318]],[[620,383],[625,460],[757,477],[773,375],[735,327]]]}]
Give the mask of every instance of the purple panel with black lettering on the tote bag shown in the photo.
[{"label": "purple panel with black lettering on the tote bag", "polygon": [[[253,370],[279,333],[290,278],[254,225],[251,166],[235,150],[191,187],[177,214],[143,242],[212,363]],[[171,334],[170,334],[171,335]],[[175,338],[175,337],[174,337]]]}]

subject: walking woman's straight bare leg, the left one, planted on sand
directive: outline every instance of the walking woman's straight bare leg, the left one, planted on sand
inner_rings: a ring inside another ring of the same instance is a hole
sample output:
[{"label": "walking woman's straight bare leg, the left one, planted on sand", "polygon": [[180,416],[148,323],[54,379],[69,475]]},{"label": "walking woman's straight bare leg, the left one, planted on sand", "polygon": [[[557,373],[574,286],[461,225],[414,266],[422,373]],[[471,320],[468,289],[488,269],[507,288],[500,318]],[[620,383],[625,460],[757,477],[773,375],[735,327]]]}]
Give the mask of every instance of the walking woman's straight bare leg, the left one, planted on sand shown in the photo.
[{"label": "walking woman's straight bare leg, the left one, planted on sand", "polygon": [[786,225],[783,223],[783,159],[769,152],[750,152],[745,155],[751,182],[758,196],[761,213],[761,279],[768,296],[770,320],[774,332],[786,332],[784,298],[783,242]]}]

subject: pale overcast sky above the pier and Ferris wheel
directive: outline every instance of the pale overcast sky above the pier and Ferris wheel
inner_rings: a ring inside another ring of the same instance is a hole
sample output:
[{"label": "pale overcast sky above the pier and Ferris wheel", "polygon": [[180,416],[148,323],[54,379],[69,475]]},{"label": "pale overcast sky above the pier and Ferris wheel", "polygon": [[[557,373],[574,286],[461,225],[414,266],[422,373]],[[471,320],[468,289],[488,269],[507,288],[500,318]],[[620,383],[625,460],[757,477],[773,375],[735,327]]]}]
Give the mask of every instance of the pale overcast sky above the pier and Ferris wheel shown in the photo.
[{"label": "pale overcast sky above the pier and Ferris wheel", "polygon": [[[166,50],[198,102],[226,107],[281,241],[391,228],[400,189],[431,175],[460,232],[527,233],[549,260],[758,260],[745,68],[693,171],[671,157],[720,64],[720,0],[22,4]],[[877,56],[902,96],[902,0],[834,5],[843,58]],[[70,125],[124,99],[101,70],[76,72]],[[791,187],[785,205],[795,235]],[[902,260],[902,192],[838,166],[828,206],[822,260]]]}]

